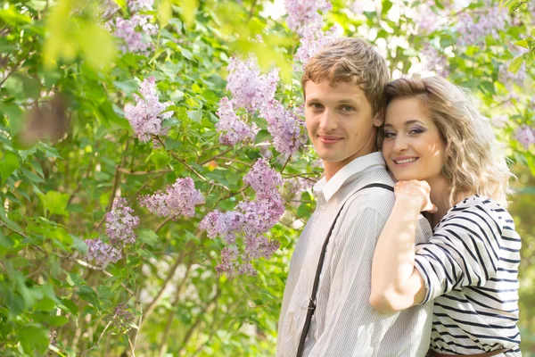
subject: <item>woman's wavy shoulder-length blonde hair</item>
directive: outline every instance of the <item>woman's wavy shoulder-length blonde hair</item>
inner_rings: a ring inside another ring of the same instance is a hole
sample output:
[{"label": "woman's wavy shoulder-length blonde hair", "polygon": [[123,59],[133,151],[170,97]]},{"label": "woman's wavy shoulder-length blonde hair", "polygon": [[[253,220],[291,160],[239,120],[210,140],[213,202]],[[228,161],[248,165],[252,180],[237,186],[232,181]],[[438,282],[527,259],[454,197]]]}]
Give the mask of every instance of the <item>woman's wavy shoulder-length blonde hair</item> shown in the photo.
[{"label": "woman's wavy shoulder-length blonde hair", "polygon": [[438,76],[396,79],[385,87],[386,105],[410,96],[422,101],[446,146],[442,174],[451,185],[449,204],[478,194],[506,206],[513,174],[504,146],[498,143],[490,120],[478,111],[472,95]]}]

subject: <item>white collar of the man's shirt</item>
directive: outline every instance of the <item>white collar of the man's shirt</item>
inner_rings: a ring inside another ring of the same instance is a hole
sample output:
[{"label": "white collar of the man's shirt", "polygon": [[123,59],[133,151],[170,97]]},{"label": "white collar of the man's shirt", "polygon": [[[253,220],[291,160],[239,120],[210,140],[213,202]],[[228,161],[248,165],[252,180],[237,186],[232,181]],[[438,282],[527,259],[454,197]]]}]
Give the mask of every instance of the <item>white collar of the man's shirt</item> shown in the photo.
[{"label": "white collar of the man's shirt", "polygon": [[314,192],[316,192],[316,194],[321,192],[325,197],[325,202],[329,202],[347,179],[374,165],[385,165],[382,153],[377,152],[367,154],[354,159],[336,172],[328,182],[325,177],[320,179],[314,186]]}]

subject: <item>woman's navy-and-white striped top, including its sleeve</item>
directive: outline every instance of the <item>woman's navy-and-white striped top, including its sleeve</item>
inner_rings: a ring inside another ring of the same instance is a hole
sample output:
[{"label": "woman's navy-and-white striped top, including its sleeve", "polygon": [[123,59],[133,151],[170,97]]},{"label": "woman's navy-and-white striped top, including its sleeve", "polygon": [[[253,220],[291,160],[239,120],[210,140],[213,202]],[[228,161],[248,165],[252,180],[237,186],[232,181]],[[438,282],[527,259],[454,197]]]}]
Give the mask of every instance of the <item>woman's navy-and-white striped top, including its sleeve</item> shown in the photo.
[{"label": "woman's navy-and-white striped top, including its sleeve", "polygon": [[434,300],[431,348],[476,354],[502,348],[516,357],[521,240],[509,213],[472,195],[452,207],[429,243],[416,245],[416,269]]}]

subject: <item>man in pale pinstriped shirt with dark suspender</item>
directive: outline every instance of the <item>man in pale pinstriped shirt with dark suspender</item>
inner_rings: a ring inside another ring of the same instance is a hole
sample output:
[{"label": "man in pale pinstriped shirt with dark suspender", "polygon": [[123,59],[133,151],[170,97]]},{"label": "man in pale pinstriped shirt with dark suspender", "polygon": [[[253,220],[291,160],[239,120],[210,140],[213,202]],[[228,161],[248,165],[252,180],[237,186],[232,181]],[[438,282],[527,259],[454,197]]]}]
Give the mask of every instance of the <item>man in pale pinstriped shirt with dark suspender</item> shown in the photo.
[{"label": "man in pale pinstriped shirt with dark suspender", "polygon": [[[394,195],[381,187],[359,189],[394,185],[376,145],[389,78],[384,59],[359,38],[325,46],[305,68],[307,129],[325,177],[314,187],[316,212],[292,255],[278,327],[279,357],[297,354],[322,245],[343,203],[326,247],[302,355],[419,357],[427,352],[432,304],[383,314],[369,303],[375,242]],[[423,218],[419,226],[416,240],[424,242],[432,231]]]}]

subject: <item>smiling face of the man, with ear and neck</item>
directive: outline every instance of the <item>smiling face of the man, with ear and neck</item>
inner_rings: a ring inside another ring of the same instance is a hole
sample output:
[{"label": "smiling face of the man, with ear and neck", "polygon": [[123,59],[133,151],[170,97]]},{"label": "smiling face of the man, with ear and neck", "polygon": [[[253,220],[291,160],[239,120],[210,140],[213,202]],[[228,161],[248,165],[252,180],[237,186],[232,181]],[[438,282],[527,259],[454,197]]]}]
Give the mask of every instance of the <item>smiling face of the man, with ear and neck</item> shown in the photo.
[{"label": "smiling face of the man, with ear and neck", "polygon": [[312,145],[324,161],[326,179],[358,156],[375,151],[376,127],[364,90],[357,84],[327,80],[305,85],[305,120]]}]

